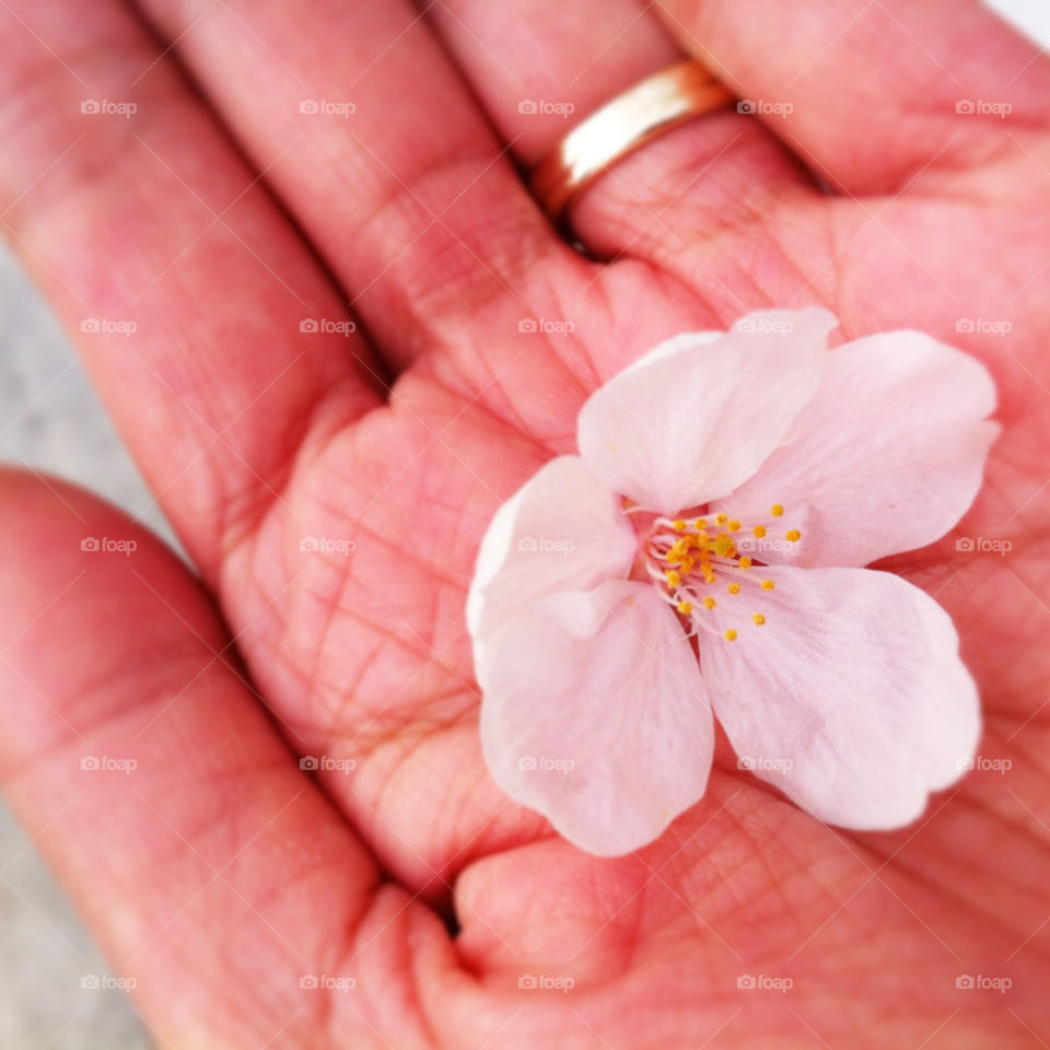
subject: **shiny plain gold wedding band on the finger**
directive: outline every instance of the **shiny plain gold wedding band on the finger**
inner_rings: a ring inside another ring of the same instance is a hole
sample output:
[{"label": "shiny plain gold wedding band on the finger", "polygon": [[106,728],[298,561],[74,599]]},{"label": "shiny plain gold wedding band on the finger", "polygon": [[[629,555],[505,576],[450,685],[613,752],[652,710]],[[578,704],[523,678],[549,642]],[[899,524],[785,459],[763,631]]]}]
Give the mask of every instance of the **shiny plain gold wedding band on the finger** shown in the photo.
[{"label": "shiny plain gold wedding band on the finger", "polygon": [[700,62],[669,66],[576,125],[534,168],[533,194],[559,222],[572,200],[603,172],[665,131],[732,100],[728,88]]}]

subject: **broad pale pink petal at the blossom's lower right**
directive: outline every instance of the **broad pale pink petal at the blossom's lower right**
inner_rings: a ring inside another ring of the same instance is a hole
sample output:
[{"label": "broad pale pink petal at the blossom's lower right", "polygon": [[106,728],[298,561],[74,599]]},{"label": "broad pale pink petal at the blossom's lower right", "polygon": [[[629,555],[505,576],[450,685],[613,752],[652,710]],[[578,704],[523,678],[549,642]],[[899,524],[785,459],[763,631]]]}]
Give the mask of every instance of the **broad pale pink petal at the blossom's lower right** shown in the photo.
[{"label": "broad pale pink petal at the blossom's lower right", "polygon": [[[908,824],[957,780],[980,735],[977,688],[947,612],[866,569],[763,570],[735,642],[700,634],[715,714],[743,768],[827,824]],[[723,603],[730,606],[730,602]]]}]

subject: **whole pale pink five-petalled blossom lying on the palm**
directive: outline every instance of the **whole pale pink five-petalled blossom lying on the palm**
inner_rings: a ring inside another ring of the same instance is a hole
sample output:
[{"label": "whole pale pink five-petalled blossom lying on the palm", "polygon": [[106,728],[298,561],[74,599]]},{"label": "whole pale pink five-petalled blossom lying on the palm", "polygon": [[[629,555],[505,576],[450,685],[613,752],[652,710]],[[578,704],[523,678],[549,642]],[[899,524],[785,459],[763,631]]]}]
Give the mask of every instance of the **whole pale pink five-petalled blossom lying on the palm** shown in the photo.
[{"label": "whole pale pink five-petalled blossom lying on the palm", "polygon": [[592,853],[703,795],[712,711],[742,768],[843,827],[907,824],[973,755],[949,617],[862,567],[970,506],[994,386],[915,331],[829,352],[836,325],[766,311],[656,347],[489,527],[467,605],[486,760]]}]

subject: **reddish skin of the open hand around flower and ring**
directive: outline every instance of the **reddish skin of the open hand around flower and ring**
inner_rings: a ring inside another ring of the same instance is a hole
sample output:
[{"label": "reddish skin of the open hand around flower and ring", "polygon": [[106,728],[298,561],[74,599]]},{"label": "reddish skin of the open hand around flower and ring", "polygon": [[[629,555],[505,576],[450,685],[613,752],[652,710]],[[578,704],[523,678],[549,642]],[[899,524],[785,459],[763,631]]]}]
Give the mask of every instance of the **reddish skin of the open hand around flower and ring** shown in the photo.
[{"label": "reddish skin of the open hand around flower and ring", "polygon": [[[159,1045],[1046,1046],[1050,62],[961,0],[304,7],[0,5],[4,232],[192,561],[0,475],[0,779]],[[512,164],[572,119],[518,102],[580,116],[686,54],[793,112],[707,116],[621,163],[573,211],[585,258]],[[981,755],[1012,767],[858,835],[723,739],[660,841],[587,856],[486,772],[477,545],[597,384],[676,331],[806,304],[996,380],[973,509],[880,568],[955,618]],[[102,317],[138,327],[81,332]],[[103,536],[137,549],[81,550]]]}]

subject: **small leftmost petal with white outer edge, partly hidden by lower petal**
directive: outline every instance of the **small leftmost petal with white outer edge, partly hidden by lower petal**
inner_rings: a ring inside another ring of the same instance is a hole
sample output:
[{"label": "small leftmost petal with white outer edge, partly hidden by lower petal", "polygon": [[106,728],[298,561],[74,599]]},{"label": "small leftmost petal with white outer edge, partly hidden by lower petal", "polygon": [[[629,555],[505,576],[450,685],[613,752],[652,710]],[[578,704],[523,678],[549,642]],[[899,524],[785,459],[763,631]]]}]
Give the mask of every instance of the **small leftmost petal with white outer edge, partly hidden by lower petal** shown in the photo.
[{"label": "small leftmost petal with white outer edge, partly hidden by lower petal", "polygon": [[626,579],[635,546],[620,498],[583,459],[545,464],[495,512],[481,540],[467,596],[475,663],[481,663],[482,635],[524,603]]}]

